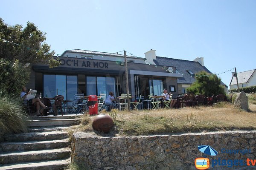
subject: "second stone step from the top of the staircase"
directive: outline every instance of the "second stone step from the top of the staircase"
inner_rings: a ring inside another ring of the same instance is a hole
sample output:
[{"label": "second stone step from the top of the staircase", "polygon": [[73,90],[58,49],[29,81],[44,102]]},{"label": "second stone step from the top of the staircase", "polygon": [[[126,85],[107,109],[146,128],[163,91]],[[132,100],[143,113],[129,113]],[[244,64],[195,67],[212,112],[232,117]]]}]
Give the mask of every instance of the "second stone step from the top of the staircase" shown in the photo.
[{"label": "second stone step from the top of the staircase", "polygon": [[35,126],[64,126],[77,125],[80,119],[50,119],[50,120],[28,120],[28,127]]}]

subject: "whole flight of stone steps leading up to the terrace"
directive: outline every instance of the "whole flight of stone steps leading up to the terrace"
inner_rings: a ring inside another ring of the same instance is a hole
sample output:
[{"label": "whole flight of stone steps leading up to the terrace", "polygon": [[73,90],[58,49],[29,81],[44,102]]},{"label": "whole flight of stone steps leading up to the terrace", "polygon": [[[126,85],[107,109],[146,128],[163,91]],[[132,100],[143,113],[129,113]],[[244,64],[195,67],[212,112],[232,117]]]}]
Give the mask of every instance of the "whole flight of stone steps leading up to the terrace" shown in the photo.
[{"label": "whole flight of stone steps leading up to the terrace", "polygon": [[67,130],[79,116],[29,117],[29,133],[0,143],[0,170],[63,170],[71,162]]}]

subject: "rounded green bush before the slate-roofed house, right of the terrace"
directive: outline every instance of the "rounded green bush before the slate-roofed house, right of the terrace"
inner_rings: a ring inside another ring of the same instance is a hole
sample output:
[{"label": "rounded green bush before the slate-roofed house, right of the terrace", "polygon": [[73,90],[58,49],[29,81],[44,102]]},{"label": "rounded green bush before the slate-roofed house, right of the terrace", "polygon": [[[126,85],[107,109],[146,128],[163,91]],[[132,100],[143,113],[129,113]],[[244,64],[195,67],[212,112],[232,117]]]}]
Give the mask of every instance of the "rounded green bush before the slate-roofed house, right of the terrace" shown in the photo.
[{"label": "rounded green bush before the slate-roofed house, right of the terrace", "polygon": [[221,79],[215,74],[208,74],[205,71],[195,74],[195,82],[186,89],[188,93],[204,94],[212,96],[213,94],[225,94],[224,87],[221,85]]}]

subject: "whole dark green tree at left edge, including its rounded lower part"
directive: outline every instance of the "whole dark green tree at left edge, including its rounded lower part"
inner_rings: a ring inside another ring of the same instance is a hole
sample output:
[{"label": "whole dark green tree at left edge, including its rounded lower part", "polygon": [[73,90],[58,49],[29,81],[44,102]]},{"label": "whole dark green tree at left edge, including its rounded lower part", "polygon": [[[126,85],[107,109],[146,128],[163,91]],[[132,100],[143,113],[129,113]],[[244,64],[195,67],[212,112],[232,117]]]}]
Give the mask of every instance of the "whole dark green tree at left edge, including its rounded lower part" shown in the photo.
[{"label": "whole dark green tree at left edge, including its rounded lower part", "polygon": [[45,43],[45,34],[33,23],[22,29],[21,25],[8,26],[0,18],[0,90],[21,91],[29,81],[29,68],[23,67],[26,63],[45,63],[50,68],[60,65]]}]

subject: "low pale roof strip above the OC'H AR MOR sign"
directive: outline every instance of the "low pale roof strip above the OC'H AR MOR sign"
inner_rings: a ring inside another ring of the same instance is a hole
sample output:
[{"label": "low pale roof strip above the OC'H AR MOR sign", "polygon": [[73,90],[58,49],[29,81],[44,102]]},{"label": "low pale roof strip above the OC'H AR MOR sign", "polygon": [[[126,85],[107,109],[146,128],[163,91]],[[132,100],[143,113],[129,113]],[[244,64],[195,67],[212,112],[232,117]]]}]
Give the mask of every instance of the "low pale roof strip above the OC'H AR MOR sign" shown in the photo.
[{"label": "low pale roof strip above the OC'H AR MOR sign", "polygon": [[[64,51],[61,56],[65,55],[66,52],[73,52],[73,53],[82,53],[82,54],[89,54],[89,55],[103,55],[103,56],[113,56],[113,57],[124,57],[123,54],[116,54],[116,53],[108,53],[108,52],[99,52],[99,51],[88,51],[88,50],[79,50],[79,49],[74,49],[74,50],[66,50]],[[146,59],[142,57],[134,57],[134,56],[128,56],[128,58],[137,58],[137,59]]]}]

